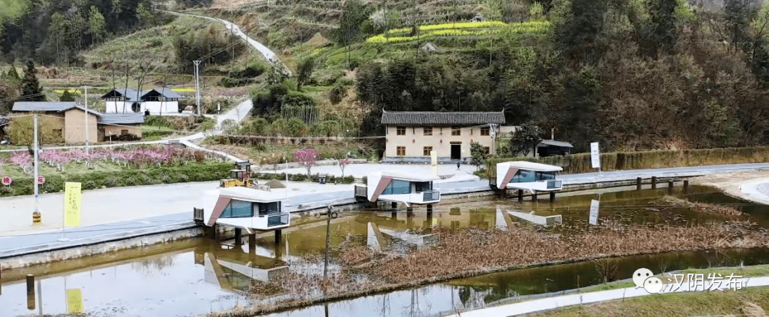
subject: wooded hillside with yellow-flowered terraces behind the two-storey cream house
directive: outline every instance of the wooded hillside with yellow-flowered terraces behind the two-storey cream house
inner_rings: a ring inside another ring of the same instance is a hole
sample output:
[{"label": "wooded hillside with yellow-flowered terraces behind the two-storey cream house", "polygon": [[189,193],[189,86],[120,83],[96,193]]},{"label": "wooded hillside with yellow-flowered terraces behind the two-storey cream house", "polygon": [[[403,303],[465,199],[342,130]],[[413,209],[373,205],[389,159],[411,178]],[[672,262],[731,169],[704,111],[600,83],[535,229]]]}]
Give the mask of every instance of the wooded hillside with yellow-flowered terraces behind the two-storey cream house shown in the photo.
[{"label": "wooded hillside with yellow-flowered terraces behind the two-storey cream house", "polygon": [[[198,10],[242,23],[292,69],[312,60],[301,88],[293,78],[255,92],[255,113],[268,122],[287,119],[285,107],[311,105],[319,114],[302,117],[305,124],[348,112],[362,122],[361,135],[383,135],[382,108],[504,109],[508,124],[552,128],[577,151],[595,141],[615,151],[767,143],[767,7],[730,0],[712,13],[681,0],[554,0],[418,2],[414,11],[414,2],[323,3]],[[411,12],[392,13],[408,5]],[[468,21],[479,13],[492,19]],[[431,14],[442,21],[426,23]],[[328,44],[313,45],[313,37]],[[435,49],[423,49],[428,43]]]}]

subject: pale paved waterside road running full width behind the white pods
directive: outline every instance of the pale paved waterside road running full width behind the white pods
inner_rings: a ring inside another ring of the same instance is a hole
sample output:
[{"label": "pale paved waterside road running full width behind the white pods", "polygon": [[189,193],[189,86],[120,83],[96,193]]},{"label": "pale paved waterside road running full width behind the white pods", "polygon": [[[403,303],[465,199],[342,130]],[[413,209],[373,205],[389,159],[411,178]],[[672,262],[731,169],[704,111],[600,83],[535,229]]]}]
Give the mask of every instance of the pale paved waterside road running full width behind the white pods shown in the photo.
[{"label": "pale paved waterside road running full width behind the white pods", "polygon": [[[393,169],[401,165],[369,164],[368,169]],[[362,166],[361,168],[365,168]],[[449,168],[451,165],[446,165]],[[338,166],[329,166],[338,169]],[[429,170],[429,165],[421,166]],[[456,168],[456,165],[453,166]],[[766,169],[769,164],[700,166],[676,169],[636,170],[622,172],[563,175],[564,182],[581,184],[617,179],[635,179],[657,175],[660,177],[704,175],[735,170]],[[346,171],[345,171],[346,172]],[[218,182],[197,182],[171,185],[148,185],[115,189],[97,189],[83,193],[82,226],[65,229],[78,240],[66,242],[91,243],[95,237],[126,234],[143,229],[158,229],[165,225],[191,225],[193,208],[211,208],[218,196]],[[326,204],[343,205],[355,202],[353,185],[319,185],[308,182],[288,182],[289,189],[274,189],[276,197],[286,199],[288,211],[309,210]],[[435,184],[442,195],[488,191],[488,181],[445,182]],[[32,227],[32,195],[0,199],[0,258],[17,249],[50,249],[61,247],[63,197],[60,193],[41,195],[43,225]],[[106,230],[108,229],[108,230]],[[79,232],[79,233],[78,233]],[[91,233],[86,233],[91,232]],[[28,239],[34,235],[34,239]]]}]

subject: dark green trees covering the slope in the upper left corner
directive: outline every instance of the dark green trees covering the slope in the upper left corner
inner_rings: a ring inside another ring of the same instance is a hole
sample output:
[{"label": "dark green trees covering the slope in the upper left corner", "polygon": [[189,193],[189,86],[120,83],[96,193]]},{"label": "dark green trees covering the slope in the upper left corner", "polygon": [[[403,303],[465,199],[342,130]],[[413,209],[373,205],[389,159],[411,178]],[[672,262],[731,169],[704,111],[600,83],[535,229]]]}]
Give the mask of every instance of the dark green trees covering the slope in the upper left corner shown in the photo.
[{"label": "dark green trees covering the slope in the upper left corner", "polygon": [[78,52],[171,18],[150,0],[17,0],[0,15],[5,62],[32,58],[43,65],[78,65]]}]

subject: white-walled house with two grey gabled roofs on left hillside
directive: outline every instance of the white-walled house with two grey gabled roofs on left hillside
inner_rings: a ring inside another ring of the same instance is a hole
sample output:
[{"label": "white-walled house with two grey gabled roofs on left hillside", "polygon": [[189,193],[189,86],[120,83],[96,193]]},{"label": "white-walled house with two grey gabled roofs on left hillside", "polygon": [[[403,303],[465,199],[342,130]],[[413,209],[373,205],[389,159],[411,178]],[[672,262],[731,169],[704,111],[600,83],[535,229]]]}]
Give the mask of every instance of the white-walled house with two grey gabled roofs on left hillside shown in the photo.
[{"label": "white-walled house with two grey gabled roofs on left hillside", "polygon": [[179,99],[184,98],[170,88],[155,88],[148,91],[114,89],[102,96],[107,113],[141,113],[165,115],[179,113]]}]

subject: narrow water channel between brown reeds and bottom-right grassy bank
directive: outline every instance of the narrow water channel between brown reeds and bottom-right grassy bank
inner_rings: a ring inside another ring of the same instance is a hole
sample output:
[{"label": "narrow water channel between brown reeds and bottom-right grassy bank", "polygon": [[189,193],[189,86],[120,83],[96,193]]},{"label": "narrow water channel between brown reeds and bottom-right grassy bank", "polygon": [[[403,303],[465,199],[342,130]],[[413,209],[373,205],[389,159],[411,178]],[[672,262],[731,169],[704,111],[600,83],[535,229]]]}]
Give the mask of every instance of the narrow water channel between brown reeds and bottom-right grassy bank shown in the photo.
[{"label": "narrow water channel between brown reeds and bottom-right grassy bank", "polygon": [[[616,267],[616,279],[629,279],[634,270],[640,267],[652,269],[654,272],[669,272],[677,269],[767,263],[769,249],[732,249],[628,256],[614,260],[612,265]],[[437,316],[456,309],[481,308],[501,299],[561,292],[598,285],[601,282],[603,276],[596,270],[595,263],[581,262],[457,279],[442,284],[425,285],[419,289],[331,302],[268,316],[325,315],[327,307],[328,315],[332,316]]]}]

